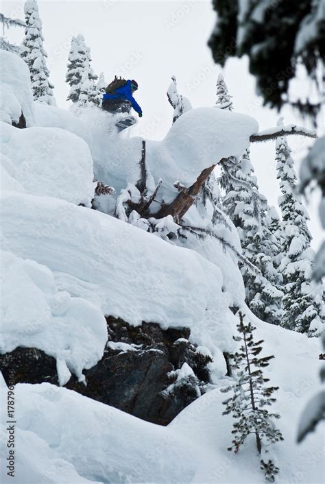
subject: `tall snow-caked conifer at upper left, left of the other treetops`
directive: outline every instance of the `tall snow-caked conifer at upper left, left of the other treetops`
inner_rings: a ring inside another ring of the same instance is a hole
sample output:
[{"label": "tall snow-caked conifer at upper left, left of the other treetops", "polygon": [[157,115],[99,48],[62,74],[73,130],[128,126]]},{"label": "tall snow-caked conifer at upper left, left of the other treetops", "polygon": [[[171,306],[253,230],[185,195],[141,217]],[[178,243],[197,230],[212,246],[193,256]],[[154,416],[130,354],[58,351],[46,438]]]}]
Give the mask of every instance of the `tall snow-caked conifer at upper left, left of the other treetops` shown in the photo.
[{"label": "tall snow-caked conifer at upper left, left of the other treetops", "polygon": [[47,53],[43,47],[42,21],[38,14],[36,0],[26,0],[24,11],[25,38],[21,43],[19,53],[29,67],[34,99],[40,103],[55,106],[54,86],[49,82],[49,69],[47,69],[46,64]]}]

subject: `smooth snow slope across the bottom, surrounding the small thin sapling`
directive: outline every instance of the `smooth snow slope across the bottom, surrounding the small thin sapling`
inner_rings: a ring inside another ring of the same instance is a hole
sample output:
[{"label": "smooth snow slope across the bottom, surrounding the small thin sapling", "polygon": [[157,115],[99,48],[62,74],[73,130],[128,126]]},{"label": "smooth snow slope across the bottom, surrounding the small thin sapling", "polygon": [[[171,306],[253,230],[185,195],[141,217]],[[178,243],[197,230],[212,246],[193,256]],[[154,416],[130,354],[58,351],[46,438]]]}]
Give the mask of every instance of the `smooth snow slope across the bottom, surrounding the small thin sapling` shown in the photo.
[{"label": "smooth snow slope across the bottom, surrounding the small thin sapling", "polygon": [[[263,354],[275,354],[265,376],[280,385],[274,409],[282,415],[278,426],[285,441],[273,450],[280,467],[276,482],[321,484],[324,426],[296,444],[300,413],[317,382],[317,340],[256,319],[254,324],[258,326],[256,337],[265,338]],[[226,450],[232,438],[232,418],[221,415],[225,395],[219,387],[228,381],[219,380],[218,388],[195,400],[167,427],[143,422],[47,383],[16,385],[16,420],[21,437],[17,438],[17,450],[19,455],[23,453],[24,444],[33,450],[43,448],[38,465],[44,475],[47,463],[63,459],[70,473],[69,465],[73,465],[82,476],[70,481],[71,474],[59,473],[53,482],[60,484],[82,483],[82,478],[105,483],[263,484],[254,438],[237,455]],[[24,482],[36,481],[27,474]]]}]

